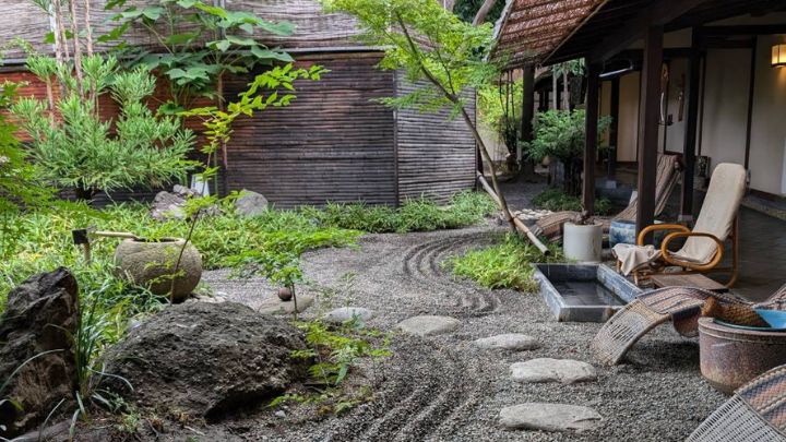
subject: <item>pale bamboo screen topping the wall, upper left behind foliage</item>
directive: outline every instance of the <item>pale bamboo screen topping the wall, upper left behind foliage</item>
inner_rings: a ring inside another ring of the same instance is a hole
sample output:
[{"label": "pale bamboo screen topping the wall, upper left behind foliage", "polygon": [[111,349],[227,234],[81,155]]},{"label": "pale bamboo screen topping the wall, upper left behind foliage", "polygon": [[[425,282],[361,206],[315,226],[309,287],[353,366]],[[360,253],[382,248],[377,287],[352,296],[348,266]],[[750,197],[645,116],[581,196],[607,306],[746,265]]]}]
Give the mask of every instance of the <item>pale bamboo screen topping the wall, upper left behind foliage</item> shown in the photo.
[{"label": "pale bamboo screen topping the wall, upper left behind foliage", "polygon": [[[106,0],[91,2],[91,23],[96,38],[116,26],[116,23],[109,19],[118,10],[105,11],[106,2]],[[205,2],[210,4],[211,0]],[[130,0],[127,5],[144,8],[157,3],[157,0]],[[3,14],[0,16],[0,45],[4,45],[14,37],[21,37],[33,44],[38,52],[50,53],[52,51],[51,45],[44,44],[44,37],[50,31],[49,19],[44,11],[34,5],[31,0],[4,0],[0,4],[3,10]],[[346,14],[322,12],[322,5],[318,0],[226,0],[226,9],[251,11],[262,19],[273,22],[290,22],[296,26],[295,33],[287,37],[275,37],[266,33],[259,33],[254,36],[271,47],[287,49],[364,47],[355,38],[359,34],[357,22]],[[83,20],[81,10],[78,14]],[[82,22],[80,24],[82,25]],[[141,26],[129,29],[127,39],[134,46],[145,47],[153,51],[160,50],[155,37]],[[96,43],[96,49],[105,50],[108,49],[108,46]],[[21,49],[14,48],[9,50],[4,57],[21,59],[25,55]]]}]

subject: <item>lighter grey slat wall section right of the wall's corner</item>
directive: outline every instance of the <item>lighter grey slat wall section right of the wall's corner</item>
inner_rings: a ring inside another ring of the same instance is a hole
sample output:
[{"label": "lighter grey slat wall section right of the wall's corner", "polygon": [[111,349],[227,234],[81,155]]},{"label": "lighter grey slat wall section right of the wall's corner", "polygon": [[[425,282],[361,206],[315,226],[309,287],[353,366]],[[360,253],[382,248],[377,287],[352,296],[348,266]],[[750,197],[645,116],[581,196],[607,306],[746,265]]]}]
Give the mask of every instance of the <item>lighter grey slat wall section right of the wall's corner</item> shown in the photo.
[{"label": "lighter grey slat wall section right of the wall's corner", "polygon": [[[397,94],[417,86],[398,75]],[[474,93],[467,94],[467,110],[475,116]],[[421,114],[414,109],[396,112],[398,199],[426,195],[440,202],[475,186],[475,140],[461,118],[450,111]]]}]

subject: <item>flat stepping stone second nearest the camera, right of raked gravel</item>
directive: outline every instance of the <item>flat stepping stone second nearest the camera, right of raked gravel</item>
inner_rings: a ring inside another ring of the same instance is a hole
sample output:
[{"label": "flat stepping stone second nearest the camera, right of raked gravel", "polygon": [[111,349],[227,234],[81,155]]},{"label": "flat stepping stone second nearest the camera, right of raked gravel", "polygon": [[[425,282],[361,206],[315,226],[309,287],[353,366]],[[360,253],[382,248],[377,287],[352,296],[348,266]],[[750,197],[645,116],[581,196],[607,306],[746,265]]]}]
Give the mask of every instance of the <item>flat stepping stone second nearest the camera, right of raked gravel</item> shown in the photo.
[{"label": "flat stepping stone second nearest the camera, right of raked gravel", "polygon": [[573,382],[597,379],[595,367],[573,359],[538,358],[511,365],[511,375],[520,382]]}]

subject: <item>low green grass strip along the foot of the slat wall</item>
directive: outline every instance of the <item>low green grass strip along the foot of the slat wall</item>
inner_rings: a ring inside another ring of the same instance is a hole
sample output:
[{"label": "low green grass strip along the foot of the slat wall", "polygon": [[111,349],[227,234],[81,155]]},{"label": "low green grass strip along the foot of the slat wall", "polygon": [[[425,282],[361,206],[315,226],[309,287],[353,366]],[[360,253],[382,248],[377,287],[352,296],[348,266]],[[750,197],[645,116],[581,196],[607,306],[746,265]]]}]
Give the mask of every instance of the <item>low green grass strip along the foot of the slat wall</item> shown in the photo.
[{"label": "low green grass strip along the foot of the slat wall", "polygon": [[329,203],[324,210],[307,207],[301,211],[326,227],[370,234],[405,234],[471,226],[483,222],[496,210],[486,194],[463,191],[453,195],[446,206],[421,196],[407,200],[398,210],[364,203]]}]

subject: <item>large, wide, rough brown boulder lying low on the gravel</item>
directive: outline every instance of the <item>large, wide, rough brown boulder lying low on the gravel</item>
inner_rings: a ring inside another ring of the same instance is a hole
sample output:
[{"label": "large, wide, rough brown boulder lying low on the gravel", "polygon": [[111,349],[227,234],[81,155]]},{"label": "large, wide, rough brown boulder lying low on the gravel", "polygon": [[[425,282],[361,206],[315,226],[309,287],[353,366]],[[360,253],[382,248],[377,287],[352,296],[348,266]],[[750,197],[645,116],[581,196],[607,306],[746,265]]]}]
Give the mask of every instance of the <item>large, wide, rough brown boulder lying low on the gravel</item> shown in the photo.
[{"label": "large, wide, rough brown boulder lying low on the gravel", "polygon": [[151,318],[107,351],[108,386],[143,407],[214,421],[302,380],[302,332],[235,302],[187,302]]}]

